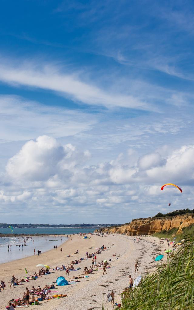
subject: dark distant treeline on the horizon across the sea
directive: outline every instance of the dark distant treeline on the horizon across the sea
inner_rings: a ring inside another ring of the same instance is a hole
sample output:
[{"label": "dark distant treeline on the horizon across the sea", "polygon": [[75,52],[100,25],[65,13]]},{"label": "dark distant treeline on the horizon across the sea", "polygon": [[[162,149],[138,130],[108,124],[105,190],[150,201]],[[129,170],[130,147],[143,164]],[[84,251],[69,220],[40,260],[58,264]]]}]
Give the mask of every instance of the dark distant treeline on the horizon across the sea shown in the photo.
[{"label": "dark distant treeline on the horizon across the sea", "polygon": [[109,227],[109,226],[118,226],[118,224],[11,224],[11,223],[0,223],[0,228],[7,228],[9,225],[12,225],[14,228],[40,228],[40,227],[47,227],[47,228],[61,228],[61,227]]}]

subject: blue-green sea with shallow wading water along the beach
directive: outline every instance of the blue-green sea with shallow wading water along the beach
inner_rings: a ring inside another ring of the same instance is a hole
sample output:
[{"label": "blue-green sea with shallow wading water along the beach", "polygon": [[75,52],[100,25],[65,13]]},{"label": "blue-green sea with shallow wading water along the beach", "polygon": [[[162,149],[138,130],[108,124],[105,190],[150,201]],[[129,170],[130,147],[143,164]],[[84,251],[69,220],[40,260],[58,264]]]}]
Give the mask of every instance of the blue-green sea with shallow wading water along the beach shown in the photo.
[{"label": "blue-green sea with shallow wading water along the beach", "polygon": [[[0,235],[0,263],[6,263],[15,259],[21,259],[27,256],[37,255],[37,251],[41,253],[53,249],[54,246],[61,247],[61,244],[67,240],[66,235],[70,237],[72,234],[94,232],[95,228],[14,228],[13,233],[22,234],[48,234],[49,236],[32,236],[32,239],[26,237],[1,237]],[[0,233],[10,234],[10,228],[0,228]],[[57,234],[64,236],[57,236]],[[30,237],[30,236],[29,236]],[[24,240],[26,242],[24,242]],[[20,248],[19,248],[20,244]],[[23,249],[22,249],[23,244]],[[9,247],[8,247],[9,245]]]}]

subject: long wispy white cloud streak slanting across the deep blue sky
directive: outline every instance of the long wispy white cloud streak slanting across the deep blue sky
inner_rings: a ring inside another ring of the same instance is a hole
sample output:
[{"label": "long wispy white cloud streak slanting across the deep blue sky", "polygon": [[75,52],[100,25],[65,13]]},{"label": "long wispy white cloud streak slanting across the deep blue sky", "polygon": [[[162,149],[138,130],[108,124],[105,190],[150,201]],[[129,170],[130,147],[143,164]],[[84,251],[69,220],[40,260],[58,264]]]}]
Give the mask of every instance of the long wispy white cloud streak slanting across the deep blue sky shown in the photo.
[{"label": "long wispy white cloud streak slanting across the deep blue sky", "polygon": [[[125,107],[142,110],[153,110],[148,102],[123,94],[123,92],[105,91],[91,82],[84,82],[78,73],[61,73],[56,67],[49,64],[40,65],[27,63],[23,65],[0,64],[0,81],[12,86],[30,86],[57,92],[76,102],[106,107]],[[35,68],[35,69],[34,69]],[[86,74],[84,74],[86,75]]]}]

